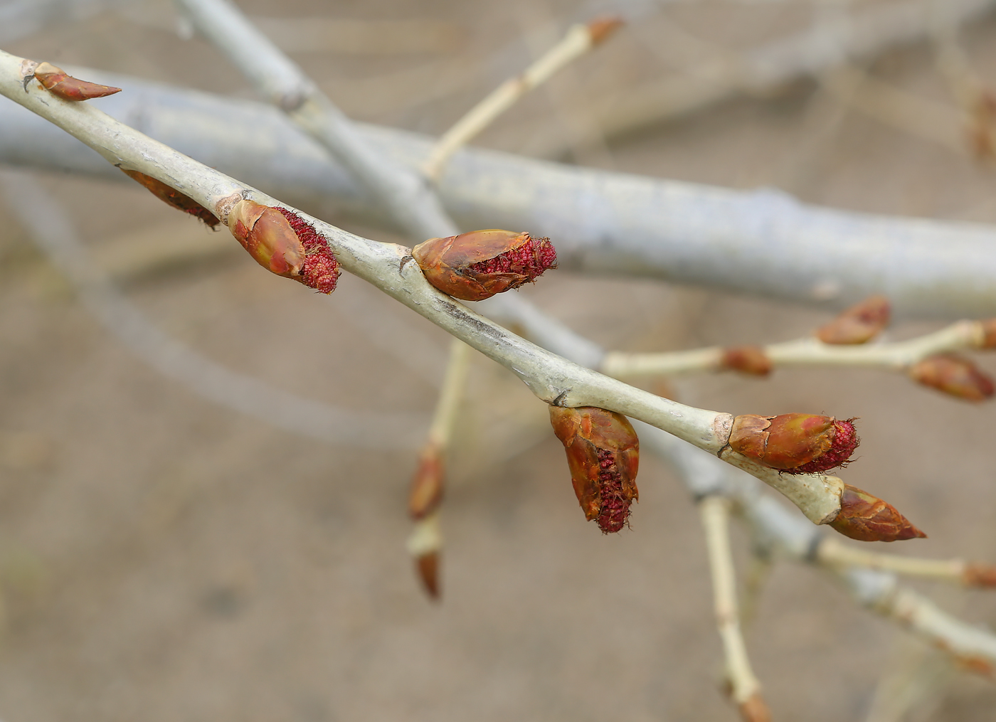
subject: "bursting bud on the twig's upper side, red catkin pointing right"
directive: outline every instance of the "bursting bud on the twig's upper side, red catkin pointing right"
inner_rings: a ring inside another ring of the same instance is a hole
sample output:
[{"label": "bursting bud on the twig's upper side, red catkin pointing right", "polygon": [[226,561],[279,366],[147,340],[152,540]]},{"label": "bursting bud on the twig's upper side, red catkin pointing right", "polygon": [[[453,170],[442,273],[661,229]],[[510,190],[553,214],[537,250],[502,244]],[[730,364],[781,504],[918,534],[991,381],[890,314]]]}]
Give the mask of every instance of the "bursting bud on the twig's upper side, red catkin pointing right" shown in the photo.
[{"label": "bursting bud on the twig's upper side, red catkin pointing right", "polygon": [[502,230],[432,238],[411,249],[430,284],[463,301],[483,301],[557,267],[549,238]]}]

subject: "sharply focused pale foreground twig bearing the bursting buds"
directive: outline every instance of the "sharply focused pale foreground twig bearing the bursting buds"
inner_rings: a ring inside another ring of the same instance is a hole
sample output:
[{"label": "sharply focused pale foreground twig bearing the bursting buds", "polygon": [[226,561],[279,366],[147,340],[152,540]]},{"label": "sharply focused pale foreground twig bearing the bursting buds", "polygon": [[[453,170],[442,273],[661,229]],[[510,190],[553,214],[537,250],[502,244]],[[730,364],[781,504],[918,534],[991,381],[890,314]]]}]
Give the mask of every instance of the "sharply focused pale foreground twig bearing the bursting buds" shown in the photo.
[{"label": "sharply focused pale foreground twig bearing the bursting buds", "polygon": [[[88,104],[70,104],[52,98],[22,80],[25,61],[0,52],[0,93],[51,120],[98,150],[110,162],[145,173],[168,184],[205,208],[222,222],[240,198],[263,205],[280,202],[223,173],[186,157]],[[420,269],[402,263],[409,249],[381,244],[293,210],[328,243],[340,265],[400,301],[447,333],[512,370],[540,399],[564,406],[598,406],[642,419],[713,453],[724,449],[732,415],[699,409],[629,386],[622,381],[567,361],[530,344],[455,302],[431,287]],[[789,475],[760,467],[724,451],[724,460],[747,468],[781,489],[798,489],[802,511],[813,521],[829,521],[840,510],[843,482],[836,477]],[[784,491],[783,491],[784,493]]]}]

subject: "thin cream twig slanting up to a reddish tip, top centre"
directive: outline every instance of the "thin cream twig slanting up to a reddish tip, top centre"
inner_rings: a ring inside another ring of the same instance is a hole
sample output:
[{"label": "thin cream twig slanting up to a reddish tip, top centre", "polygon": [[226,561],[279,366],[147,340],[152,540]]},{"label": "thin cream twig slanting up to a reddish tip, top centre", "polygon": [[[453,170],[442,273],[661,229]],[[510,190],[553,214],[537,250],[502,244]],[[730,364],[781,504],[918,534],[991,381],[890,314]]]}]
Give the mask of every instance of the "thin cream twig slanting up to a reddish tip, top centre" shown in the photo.
[{"label": "thin cream twig slanting up to a reddish tip, top centre", "polygon": [[600,18],[587,24],[572,25],[557,45],[521,75],[510,78],[498,86],[439,137],[422,164],[422,173],[425,177],[433,181],[438,180],[453,153],[511,109],[527,93],[543,85],[570,63],[601,44],[621,22],[614,18]]}]

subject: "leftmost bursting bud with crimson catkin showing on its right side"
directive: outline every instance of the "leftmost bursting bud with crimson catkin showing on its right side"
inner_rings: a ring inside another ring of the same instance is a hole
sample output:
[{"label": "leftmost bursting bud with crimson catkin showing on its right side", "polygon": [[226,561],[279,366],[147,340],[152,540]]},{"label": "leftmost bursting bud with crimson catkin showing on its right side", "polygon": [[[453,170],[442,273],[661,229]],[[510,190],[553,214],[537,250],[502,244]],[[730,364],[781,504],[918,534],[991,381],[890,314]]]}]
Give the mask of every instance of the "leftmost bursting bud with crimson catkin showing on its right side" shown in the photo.
[{"label": "leftmost bursting bud with crimson catkin showing on its right side", "polygon": [[268,271],[322,293],[336,289],[339,263],[325,240],[293,211],[240,200],[229,211],[228,228]]}]

